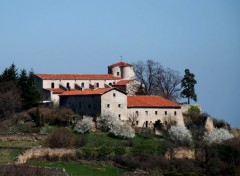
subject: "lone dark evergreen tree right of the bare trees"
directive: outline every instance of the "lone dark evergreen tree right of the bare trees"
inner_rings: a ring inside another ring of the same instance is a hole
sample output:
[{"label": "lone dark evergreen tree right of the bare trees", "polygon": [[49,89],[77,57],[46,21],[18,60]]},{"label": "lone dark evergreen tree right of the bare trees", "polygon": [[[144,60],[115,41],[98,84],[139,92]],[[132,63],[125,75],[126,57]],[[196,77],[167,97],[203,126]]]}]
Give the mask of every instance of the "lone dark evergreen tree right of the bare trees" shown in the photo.
[{"label": "lone dark evergreen tree right of the bare trees", "polygon": [[189,69],[185,70],[185,75],[182,79],[182,88],[183,91],[181,92],[181,96],[183,98],[188,99],[188,104],[190,104],[190,99],[193,99],[194,101],[197,101],[197,95],[195,93],[195,84],[197,84],[197,81],[195,80],[195,75],[193,73],[190,73]]}]

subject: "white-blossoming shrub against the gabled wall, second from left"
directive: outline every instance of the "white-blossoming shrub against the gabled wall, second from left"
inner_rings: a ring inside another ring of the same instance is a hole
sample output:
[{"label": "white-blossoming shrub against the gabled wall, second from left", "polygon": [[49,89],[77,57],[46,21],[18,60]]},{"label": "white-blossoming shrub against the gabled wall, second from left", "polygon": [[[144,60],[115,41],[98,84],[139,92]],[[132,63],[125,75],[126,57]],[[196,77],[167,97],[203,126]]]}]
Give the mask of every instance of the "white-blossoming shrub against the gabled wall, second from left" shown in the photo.
[{"label": "white-blossoming shrub against the gabled wall, second from left", "polygon": [[108,132],[110,129],[112,129],[112,126],[115,122],[118,122],[119,120],[115,115],[112,115],[110,113],[103,113],[100,117],[97,118],[97,129]]}]

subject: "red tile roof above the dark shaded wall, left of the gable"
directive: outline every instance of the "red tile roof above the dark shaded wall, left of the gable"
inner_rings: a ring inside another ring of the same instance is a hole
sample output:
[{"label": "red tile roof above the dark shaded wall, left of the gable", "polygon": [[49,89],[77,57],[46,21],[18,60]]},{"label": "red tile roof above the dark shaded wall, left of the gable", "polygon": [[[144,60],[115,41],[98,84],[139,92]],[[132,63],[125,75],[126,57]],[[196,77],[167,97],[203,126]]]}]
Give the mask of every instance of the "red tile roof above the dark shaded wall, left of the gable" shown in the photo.
[{"label": "red tile roof above the dark shaded wall, left of the gable", "polygon": [[74,96],[74,95],[102,95],[114,88],[99,88],[99,89],[85,89],[85,90],[69,90],[63,92],[60,96]]}]

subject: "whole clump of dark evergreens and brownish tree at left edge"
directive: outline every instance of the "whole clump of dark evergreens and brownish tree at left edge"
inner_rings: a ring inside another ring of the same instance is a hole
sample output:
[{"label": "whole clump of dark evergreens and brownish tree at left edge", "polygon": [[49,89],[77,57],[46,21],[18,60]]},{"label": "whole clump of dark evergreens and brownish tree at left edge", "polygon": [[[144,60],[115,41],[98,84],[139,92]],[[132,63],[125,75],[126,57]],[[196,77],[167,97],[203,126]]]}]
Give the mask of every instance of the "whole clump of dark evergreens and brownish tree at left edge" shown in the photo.
[{"label": "whole clump of dark evergreens and brownish tree at left edge", "polygon": [[34,107],[40,98],[33,70],[18,72],[11,64],[0,74],[0,117]]}]

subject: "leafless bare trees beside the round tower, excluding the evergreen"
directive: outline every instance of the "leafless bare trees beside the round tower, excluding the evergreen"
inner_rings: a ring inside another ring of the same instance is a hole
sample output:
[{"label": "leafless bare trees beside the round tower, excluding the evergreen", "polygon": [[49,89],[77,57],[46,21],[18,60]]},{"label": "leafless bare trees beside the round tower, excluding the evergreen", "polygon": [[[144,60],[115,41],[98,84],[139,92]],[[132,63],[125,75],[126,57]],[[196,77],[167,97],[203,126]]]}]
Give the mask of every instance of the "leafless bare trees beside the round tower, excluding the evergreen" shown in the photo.
[{"label": "leafless bare trees beside the round tower, excluding the evergreen", "polygon": [[134,64],[138,95],[161,95],[176,101],[180,97],[181,76],[177,71],[163,68],[153,60],[138,61]]}]

